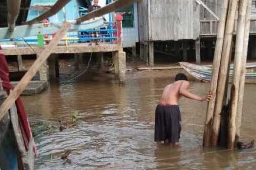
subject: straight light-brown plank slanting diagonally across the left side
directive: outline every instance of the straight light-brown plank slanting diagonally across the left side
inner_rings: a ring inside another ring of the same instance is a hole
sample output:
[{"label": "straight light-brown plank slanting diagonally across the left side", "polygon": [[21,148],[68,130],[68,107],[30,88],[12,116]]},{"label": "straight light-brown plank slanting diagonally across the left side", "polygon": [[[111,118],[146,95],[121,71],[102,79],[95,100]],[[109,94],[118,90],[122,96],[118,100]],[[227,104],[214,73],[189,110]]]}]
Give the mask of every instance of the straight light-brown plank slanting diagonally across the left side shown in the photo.
[{"label": "straight light-brown plank slanting diagonally across the left side", "polygon": [[4,117],[7,111],[11,108],[16,99],[20,96],[22,91],[26,88],[28,83],[32,80],[33,76],[35,76],[36,72],[41,68],[43,63],[50,56],[52,50],[58,45],[58,42],[61,40],[63,36],[65,36],[66,32],[69,30],[71,24],[65,22],[62,27],[57,32],[56,36],[50,41],[50,43],[45,47],[42,53],[39,55],[37,60],[33,63],[30,69],[26,72],[26,74],[22,77],[20,82],[17,84],[15,89],[10,92],[7,99],[0,107],[0,120]]}]

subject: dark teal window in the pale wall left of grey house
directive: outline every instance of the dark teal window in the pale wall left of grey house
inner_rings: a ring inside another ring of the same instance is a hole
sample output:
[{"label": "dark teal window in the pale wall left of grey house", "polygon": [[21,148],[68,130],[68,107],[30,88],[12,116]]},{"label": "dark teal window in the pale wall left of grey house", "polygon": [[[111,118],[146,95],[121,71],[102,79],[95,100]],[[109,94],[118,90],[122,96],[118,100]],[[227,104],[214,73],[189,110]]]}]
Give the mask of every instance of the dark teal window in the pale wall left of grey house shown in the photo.
[{"label": "dark teal window in the pale wall left of grey house", "polygon": [[116,11],[116,13],[124,13],[124,12],[125,14],[123,15],[124,18],[122,21],[122,27],[134,28],[134,4],[124,7],[119,11]]}]

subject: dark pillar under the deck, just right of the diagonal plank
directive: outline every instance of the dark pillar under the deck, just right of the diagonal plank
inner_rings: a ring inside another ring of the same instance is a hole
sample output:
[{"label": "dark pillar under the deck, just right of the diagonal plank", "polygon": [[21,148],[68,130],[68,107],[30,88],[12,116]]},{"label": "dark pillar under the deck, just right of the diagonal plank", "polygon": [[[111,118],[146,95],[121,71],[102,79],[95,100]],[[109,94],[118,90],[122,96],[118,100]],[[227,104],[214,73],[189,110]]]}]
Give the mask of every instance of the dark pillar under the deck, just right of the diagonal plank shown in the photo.
[{"label": "dark pillar under the deck, just right of the diagonal plank", "polygon": [[51,54],[48,58],[50,80],[56,80],[59,77],[59,59],[57,54]]}]

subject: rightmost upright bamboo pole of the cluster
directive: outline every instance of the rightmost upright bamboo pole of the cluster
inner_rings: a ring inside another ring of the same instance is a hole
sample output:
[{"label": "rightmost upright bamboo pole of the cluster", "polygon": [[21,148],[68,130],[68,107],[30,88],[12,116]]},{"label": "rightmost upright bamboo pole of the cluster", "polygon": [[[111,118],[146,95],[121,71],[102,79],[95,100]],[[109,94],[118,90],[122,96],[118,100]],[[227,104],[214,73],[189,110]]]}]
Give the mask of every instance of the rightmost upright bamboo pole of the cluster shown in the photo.
[{"label": "rightmost upright bamboo pole of the cluster", "polygon": [[236,116],[236,141],[239,141],[241,132],[241,119],[243,114],[243,94],[245,87],[245,72],[246,72],[246,60],[248,52],[248,42],[250,33],[250,16],[251,16],[252,1],[248,0],[246,19],[245,19],[245,37],[243,42],[243,61],[241,64],[241,75],[239,81],[239,92],[238,92],[238,105],[237,105],[237,116]]}]

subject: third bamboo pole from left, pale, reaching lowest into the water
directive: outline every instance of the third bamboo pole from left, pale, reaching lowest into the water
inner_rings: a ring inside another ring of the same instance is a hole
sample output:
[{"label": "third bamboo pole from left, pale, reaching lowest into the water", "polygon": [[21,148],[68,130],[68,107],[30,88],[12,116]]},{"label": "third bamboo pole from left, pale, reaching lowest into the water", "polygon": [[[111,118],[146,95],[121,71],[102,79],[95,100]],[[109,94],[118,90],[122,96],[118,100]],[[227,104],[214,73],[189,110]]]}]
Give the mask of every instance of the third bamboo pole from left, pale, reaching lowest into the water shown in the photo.
[{"label": "third bamboo pole from left, pale, reaching lowest into the water", "polygon": [[231,110],[229,118],[229,132],[228,132],[228,148],[233,149],[235,146],[236,137],[236,114],[238,104],[238,91],[239,91],[239,80],[241,74],[241,64],[243,57],[243,42],[245,36],[245,15],[247,9],[248,0],[239,0],[239,12],[238,12],[238,23],[237,23],[237,34],[236,34],[236,51],[234,60],[234,72],[232,87],[234,87],[234,98],[231,99]]}]

